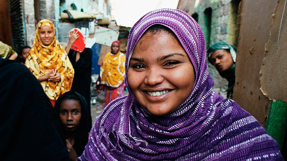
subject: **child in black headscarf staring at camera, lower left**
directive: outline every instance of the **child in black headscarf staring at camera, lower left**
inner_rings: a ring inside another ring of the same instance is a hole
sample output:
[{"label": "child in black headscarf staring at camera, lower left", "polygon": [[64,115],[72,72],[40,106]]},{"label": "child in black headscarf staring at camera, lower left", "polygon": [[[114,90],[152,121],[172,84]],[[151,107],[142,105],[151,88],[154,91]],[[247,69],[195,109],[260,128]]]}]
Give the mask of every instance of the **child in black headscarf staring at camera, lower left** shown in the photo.
[{"label": "child in black headscarf staring at camera, lower left", "polygon": [[70,159],[75,161],[88,142],[91,113],[87,102],[80,94],[69,91],[55,103],[58,131],[67,145]]}]

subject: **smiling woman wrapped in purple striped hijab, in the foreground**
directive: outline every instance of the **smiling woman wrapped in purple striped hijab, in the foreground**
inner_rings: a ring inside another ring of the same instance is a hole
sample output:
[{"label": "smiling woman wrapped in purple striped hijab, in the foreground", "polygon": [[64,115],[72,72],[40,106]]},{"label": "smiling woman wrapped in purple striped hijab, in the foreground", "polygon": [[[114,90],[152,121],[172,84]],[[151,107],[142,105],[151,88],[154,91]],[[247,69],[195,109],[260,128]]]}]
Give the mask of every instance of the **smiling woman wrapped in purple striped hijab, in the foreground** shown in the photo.
[{"label": "smiling woman wrapped in purple striped hijab, in the foreground", "polygon": [[188,14],[144,15],[126,57],[129,95],[104,109],[80,161],[283,161],[253,116],[212,91],[204,35]]}]

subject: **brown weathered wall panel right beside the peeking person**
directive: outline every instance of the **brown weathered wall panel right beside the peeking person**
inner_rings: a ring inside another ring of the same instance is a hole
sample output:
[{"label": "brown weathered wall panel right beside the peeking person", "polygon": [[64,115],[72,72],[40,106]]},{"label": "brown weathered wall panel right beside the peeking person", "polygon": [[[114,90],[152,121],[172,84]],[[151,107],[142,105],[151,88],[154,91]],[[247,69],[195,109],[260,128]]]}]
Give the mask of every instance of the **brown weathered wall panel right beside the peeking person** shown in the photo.
[{"label": "brown weathered wall panel right beside the peeking person", "polygon": [[277,0],[243,0],[240,5],[233,98],[263,126],[266,124],[270,101],[260,91],[259,71],[276,4]]}]

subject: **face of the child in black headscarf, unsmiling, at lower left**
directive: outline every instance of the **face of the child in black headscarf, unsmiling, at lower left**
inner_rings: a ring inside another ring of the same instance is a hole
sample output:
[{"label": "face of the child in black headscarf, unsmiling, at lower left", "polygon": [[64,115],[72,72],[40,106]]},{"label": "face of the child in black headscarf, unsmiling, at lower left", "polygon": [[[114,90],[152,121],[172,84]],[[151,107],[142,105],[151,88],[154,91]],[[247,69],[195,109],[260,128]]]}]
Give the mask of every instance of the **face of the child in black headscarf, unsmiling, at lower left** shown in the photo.
[{"label": "face of the child in black headscarf, unsmiling, at lower left", "polygon": [[80,124],[81,105],[78,100],[65,99],[60,105],[60,120],[66,131],[73,132]]}]

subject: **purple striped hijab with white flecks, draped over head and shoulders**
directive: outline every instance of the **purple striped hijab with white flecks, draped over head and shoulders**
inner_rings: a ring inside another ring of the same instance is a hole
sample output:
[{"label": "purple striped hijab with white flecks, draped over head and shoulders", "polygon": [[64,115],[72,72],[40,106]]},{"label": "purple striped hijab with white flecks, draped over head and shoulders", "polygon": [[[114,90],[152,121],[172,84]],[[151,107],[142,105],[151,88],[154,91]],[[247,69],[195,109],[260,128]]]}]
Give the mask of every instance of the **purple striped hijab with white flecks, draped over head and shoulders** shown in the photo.
[{"label": "purple striped hijab with white flecks, draped over head and shoulders", "polygon": [[154,117],[132,94],[110,102],[91,129],[80,161],[251,161],[283,160],[276,141],[236,102],[212,92],[199,25],[183,11],[158,9],[131,29],[126,59],[152,25],[171,29],[195,70],[190,96],[171,114]]}]

